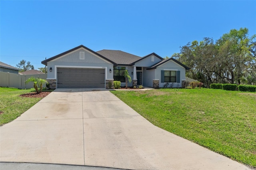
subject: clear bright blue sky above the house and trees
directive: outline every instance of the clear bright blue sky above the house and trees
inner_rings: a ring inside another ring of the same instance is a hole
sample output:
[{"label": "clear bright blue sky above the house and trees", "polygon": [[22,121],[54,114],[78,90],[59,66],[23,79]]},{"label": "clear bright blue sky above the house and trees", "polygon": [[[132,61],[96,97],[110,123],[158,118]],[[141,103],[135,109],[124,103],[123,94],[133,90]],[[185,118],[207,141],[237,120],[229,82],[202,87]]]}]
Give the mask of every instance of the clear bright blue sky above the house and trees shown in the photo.
[{"label": "clear bright blue sky above the house and trees", "polygon": [[0,61],[41,61],[78,45],[170,57],[231,29],[256,34],[256,1],[0,0]]}]

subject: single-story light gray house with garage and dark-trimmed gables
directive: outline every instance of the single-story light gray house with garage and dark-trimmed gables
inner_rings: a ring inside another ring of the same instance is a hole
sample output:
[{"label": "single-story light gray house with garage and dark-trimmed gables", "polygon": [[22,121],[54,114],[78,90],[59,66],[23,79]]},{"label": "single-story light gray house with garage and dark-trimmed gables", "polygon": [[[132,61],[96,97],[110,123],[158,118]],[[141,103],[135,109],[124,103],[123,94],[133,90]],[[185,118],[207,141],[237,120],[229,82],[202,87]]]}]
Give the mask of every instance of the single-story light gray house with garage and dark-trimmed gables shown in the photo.
[{"label": "single-story light gray house with garage and dark-trimmed gables", "polygon": [[182,87],[189,69],[174,58],[163,59],[156,53],[139,57],[119,50],[93,51],[80,45],[42,61],[47,65],[47,81],[55,88],[109,88],[109,82],[121,81],[125,86],[124,70],[132,82],[128,86]]}]

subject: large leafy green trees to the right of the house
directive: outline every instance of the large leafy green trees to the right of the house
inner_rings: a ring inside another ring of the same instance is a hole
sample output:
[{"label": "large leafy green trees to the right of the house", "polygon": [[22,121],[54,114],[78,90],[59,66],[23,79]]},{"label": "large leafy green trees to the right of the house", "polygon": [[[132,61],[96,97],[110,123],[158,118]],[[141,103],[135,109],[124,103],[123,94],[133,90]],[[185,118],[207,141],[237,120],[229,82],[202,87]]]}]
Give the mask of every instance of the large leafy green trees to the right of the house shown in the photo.
[{"label": "large leafy green trees to the right of the house", "polygon": [[180,47],[173,56],[191,69],[186,76],[211,83],[256,84],[256,35],[247,28],[230,30],[216,42],[203,38]]}]

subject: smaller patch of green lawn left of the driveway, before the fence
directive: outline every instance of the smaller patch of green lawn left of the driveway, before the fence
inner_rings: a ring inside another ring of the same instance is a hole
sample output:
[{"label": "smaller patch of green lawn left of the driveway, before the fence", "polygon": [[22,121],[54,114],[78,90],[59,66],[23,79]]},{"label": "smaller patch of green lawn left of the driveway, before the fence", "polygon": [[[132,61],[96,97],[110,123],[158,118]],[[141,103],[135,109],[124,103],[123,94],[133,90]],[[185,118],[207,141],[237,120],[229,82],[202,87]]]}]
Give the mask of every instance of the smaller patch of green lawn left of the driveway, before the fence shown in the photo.
[{"label": "smaller patch of green lawn left of the driveway, before the fence", "polygon": [[35,92],[35,89],[0,87],[0,126],[13,121],[42,99],[19,97],[21,94],[30,92]]}]

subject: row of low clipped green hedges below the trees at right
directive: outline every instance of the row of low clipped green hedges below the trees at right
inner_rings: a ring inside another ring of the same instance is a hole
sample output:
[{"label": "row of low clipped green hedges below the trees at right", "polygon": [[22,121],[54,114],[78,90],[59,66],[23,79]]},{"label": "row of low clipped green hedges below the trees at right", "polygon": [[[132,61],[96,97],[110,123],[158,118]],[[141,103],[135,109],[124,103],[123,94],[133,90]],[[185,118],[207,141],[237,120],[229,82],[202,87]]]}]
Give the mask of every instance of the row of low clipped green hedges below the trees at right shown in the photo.
[{"label": "row of low clipped green hedges below the trees at right", "polygon": [[256,85],[236,85],[236,84],[219,84],[219,83],[212,83],[210,85],[211,89],[223,89],[229,91],[250,91],[256,92]]}]

